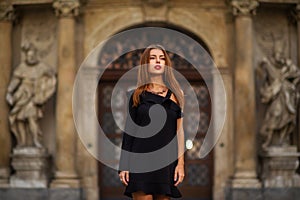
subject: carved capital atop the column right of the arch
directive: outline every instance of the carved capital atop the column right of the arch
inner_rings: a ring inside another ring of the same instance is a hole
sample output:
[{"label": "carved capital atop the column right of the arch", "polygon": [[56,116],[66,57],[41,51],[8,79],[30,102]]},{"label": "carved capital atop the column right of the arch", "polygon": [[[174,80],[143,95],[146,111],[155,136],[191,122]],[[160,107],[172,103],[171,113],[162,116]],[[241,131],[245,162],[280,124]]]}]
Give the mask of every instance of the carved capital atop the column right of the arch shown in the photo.
[{"label": "carved capital atop the column right of the arch", "polygon": [[249,16],[256,14],[258,2],[256,0],[233,0],[231,1],[232,13],[235,16]]}]

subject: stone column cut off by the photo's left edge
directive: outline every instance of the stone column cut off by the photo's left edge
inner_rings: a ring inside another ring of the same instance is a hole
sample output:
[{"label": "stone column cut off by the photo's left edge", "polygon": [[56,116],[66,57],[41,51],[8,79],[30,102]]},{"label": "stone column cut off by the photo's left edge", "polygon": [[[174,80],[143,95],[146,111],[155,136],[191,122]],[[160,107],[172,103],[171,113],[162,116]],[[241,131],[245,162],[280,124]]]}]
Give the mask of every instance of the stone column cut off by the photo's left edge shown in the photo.
[{"label": "stone column cut off by the photo's left edge", "polygon": [[5,96],[11,74],[13,11],[12,5],[6,3],[0,4],[0,49],[2,49],[0,51],[0,187],[8,184],[10,175],[9,157],[11,151],[11,135],[8,125],[9,109]]}]

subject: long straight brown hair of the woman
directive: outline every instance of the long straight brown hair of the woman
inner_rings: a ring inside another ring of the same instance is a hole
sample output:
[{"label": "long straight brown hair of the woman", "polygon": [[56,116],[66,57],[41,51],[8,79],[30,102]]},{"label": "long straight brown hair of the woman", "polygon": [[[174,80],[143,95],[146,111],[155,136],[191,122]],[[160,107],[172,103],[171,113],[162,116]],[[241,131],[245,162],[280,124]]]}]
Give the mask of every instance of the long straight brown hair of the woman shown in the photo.
[{"label": "long straight brown hair of the woman", "polygon": [[138,69],[138,78],[137,78],[137,89],[133,94],[133,106],[137,106],[140,103],[140,94],[143,93],[150,85],[150,75],[148,73],[148,64],[150,62],[150,51],[152,49],[160,49],[162,50],[165,56],[165,71],[164,71],[164,82],[166,86],[174,93],[175,98],[181,108],[183,108],[184,99],[182,90],[176,80],[172,67],[172,62],[167,54],[164,47],[158,44],[153,44],[148,46],[140,59],[140,67]]}]

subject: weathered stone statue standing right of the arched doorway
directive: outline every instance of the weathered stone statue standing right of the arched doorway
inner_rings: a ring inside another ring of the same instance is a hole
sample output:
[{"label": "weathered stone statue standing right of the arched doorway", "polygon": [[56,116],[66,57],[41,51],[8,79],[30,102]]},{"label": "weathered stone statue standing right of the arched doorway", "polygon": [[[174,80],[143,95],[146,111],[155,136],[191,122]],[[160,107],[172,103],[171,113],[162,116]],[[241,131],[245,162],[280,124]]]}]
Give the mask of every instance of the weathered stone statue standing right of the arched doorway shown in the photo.
[{"label": "weathered stone statue standing right of the arched doorway", "polygon": [[300,71],[290,59],[283,56],[281,46],[274,46],[273,56],[263,58],[259,68],[264,74],[260,88],[261,102],[267,104],[260,129],[264,138],[263,149],[291,145],[290,134],[295,129],[299,103],[297,84]]}]

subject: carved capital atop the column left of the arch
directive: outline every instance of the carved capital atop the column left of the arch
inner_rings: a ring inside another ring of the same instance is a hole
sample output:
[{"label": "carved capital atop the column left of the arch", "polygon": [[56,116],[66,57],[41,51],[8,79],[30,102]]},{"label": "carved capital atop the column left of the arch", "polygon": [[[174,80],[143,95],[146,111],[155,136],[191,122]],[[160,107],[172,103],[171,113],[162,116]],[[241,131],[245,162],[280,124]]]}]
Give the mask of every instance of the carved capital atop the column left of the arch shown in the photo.
[{"label": "carved capital atop the column left of the arch", "polygon": [[53,8],[58,17],[76,17],[79,14],[80,3],[78,0],[55,0]]}]

